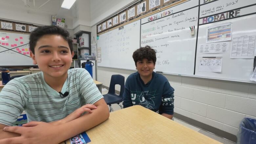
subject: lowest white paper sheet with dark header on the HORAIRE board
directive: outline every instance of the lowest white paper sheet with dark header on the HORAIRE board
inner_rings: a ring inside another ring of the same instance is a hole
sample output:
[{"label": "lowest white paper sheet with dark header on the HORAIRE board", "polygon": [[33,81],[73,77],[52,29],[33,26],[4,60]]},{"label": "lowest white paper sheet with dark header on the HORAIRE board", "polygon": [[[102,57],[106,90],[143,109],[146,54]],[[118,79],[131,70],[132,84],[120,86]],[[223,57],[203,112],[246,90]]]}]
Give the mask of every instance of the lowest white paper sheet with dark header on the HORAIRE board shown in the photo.
[{"label": "lowest white paper sheet with dark header on the HORAIRE board", "polygon": [[199,57],[199,72],[221,72],[222,58]]}]

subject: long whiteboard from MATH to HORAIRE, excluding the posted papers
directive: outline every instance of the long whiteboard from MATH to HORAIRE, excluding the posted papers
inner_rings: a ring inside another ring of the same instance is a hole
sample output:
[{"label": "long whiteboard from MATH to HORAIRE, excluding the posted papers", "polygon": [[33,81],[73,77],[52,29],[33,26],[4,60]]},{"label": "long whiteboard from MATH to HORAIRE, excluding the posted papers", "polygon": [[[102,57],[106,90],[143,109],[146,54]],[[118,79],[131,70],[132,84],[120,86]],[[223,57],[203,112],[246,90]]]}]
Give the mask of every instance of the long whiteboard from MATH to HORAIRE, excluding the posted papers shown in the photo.
[{"label": "long whiteboard from MATH to HORAIRE, excluding the posted papers", "polygon": [[[139,34],[141,47],[149,45],[157,51],[155,71],[167,74],[251,82],[249,79],[253,72],[256,49],[254,48],[254,53],[250,58],[231,58],[230,55],[233,37],[241,35],[255,35],[256,37],[255,19],[255,0],[214,0],[205,1],[205,3],[204,0],[188,0],[142,18],[140,29],[139,27],[133,29],[129,34],[125,33],[123,36],[117,36],[117,32],[120,31],[118,29],[101,34],[100,38],[103,38],[98,41],[98,47],[100,46],[103,49],[99,66],[135,70],[132,53],[139,48]],[[220,40],[220,42],[228,44],[228,51],[223,53],[202,52],[200,49],[202,44],[217,44],[216,41],[209,41],[207,29],[224,24],[232,25],[230,39]],[[131,27],[130,24],[128,25],[127,27]],[[195,26],[195,35],[191,35],[189,28],[191,26]],[[129,43],[126,47],[131,48],[129,51],[118,51],[118,46],[112,46],[115,44],[120,45],[117,37],[127,37],[127,35],[134,37],[132,41],[127,40]],[[256,43],[254,47],[255,45]],[[113,48],[115,48],[114,53]],[[111,55],[110,53],[113,54]],[[199,70],[200,57],[221,58],[221,71],[218,69],[218,72],[202,72],[202,69]]]}]

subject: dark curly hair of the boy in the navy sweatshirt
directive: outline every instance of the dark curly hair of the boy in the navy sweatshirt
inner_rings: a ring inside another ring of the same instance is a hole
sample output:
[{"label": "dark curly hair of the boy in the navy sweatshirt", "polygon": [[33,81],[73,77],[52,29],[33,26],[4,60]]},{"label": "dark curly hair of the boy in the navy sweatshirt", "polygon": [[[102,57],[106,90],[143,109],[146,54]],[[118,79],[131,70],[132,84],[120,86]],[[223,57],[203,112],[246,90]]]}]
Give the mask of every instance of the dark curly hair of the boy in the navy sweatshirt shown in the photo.
[{"label": "dark curly hair of the boy in the navy sweatshirt", "polygon": [[136,67],[137,62],[139,60],[143,60],[144,58],[146,58],[147,60],[152,60],[155,65],[157,61],[156,51],[154,49],[151,49],[150,46],[145,46],[133,52],[133,60],[135,62]]}]

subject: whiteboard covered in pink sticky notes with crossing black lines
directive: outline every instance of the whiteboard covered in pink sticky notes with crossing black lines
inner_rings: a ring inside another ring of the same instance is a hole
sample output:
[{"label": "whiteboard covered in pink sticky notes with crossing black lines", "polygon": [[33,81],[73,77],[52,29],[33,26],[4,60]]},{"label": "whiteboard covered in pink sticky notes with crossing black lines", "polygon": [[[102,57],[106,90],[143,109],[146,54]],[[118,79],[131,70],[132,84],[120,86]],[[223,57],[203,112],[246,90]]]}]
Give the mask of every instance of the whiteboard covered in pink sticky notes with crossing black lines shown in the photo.
[{"label": "whiteboard covered in pink sticky notes with crossing black lines", "polygon": [[31,65],[29,34],[0,31],[0,66]]}]

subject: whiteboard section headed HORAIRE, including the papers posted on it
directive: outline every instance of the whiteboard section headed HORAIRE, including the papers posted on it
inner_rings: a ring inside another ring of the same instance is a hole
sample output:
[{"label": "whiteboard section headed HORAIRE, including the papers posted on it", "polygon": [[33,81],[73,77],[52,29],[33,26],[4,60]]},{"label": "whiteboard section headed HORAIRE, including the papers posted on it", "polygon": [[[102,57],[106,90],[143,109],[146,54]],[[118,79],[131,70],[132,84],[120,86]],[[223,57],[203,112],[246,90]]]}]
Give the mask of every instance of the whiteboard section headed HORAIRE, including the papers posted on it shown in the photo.
[{"label": "whiteboard section headed HORAIRE, including the papers posted on it", "polygon": [[[218,0],[206,3],[200,7],[195,75],[249,81],[250,75],[253,72],[255,55],[255,3],[255,0]],[[229,28],[224,27],[229,25],[230,31],[228,30]],[[218,30],[215,31],[214,29]],[[207,30],[213,30],[213,32],[207,33]],[[230,40],[227,39],[227,41],[222,41],[225,37],[219,39],[214,37],[214,35],[227,36],[228,33],[231,33],[231,35],[229,37]],[[210,43],[207,43],[211,36],[213,38],[210,39]],[[238,38],[240,39],[240,44]],[[223,43],[226,43],[224,49],[222,46]],[[239,45],[241,52],[237,49]],[[251,51],[248,50],[248,47],[249,49],[251,48]],[[205,48],[206,51],[203,50]],[[214,51],[209,53],[207,49],[217,49],[217,51],[221,49],[221,53],[214,53]],[[232,53],[240,58],[231,57]],[[206,59],[203,59],[203,57]],[[220,65],[222,65],[221,72],[202,72],[202,70],[200,70],[201,65],[215,64],[211,64],[211,61],[207,62],[207,57],[222,59],[220,63]]]}]

